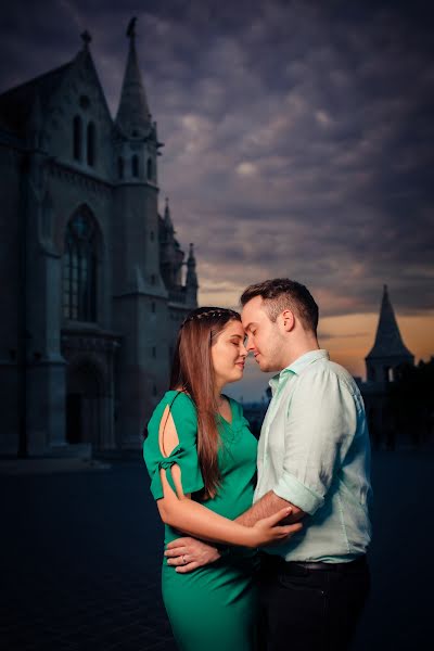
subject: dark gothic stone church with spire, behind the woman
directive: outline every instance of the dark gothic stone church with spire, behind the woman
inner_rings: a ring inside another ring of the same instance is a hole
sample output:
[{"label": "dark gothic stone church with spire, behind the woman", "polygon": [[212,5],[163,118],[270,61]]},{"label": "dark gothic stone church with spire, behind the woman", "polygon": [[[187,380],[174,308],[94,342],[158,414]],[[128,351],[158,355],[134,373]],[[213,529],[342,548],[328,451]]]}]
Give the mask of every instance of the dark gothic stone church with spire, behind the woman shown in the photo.
[{"label": "dark gothic stone church with spire, behind the woman", "polygon": [[197,305],[128,38],[115,119],[86,33],[71,62],[0,95],[1,454],[138,447]]}]

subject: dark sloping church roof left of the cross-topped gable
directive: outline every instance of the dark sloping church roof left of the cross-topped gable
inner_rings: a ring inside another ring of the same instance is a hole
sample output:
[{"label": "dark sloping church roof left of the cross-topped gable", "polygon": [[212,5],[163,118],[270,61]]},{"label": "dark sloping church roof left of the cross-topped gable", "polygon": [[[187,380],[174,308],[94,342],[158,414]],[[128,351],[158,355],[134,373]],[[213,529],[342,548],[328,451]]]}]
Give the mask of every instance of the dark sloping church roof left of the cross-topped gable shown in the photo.
[{"label": "dark sloping church roof left of the cross-topped gable", "polygon": [[64,74],[72,65],[73,62],[65,63],[44,75],[35,77],[35,79],[30,79],[30,81],[26,81],[0,94],[1,124],[17,136],[24,136],[36,98],[38,97],[40,108],[43,112],[48,106],[52,93],[59,87]]}]

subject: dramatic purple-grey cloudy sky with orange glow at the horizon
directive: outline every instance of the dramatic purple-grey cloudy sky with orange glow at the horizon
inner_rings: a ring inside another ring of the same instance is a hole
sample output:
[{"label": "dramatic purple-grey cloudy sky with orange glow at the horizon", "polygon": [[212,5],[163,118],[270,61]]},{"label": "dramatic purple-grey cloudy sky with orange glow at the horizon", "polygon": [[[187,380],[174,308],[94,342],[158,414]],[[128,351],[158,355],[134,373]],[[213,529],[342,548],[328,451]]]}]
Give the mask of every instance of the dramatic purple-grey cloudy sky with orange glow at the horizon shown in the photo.
[{"label": "dramatic purple-grey cloudy sky with orange glow at the horizon", "polygon": [[[417,358],[434,354],[431,2],[16,0],[0,91],[71,60],[79,34],[115,114],[138,16],[159,159],[202,304],[291,277],[320,304],[320,343],[363,374],[383,283]],[[264,390],[253,363],[234,394]]]}]

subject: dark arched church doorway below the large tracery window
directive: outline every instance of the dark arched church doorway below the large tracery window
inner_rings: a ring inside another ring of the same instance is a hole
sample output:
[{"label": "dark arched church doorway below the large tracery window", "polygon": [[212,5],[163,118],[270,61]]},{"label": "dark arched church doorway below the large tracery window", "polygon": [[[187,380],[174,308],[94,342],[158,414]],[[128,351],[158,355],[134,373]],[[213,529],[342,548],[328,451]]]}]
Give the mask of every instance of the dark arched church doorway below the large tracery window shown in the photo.
[{"label": "dark arched church doorway below the large tracery window", "polygon": [[102,446],[104,378],[91,360],[72,363],[67,372],[66,441]]}]

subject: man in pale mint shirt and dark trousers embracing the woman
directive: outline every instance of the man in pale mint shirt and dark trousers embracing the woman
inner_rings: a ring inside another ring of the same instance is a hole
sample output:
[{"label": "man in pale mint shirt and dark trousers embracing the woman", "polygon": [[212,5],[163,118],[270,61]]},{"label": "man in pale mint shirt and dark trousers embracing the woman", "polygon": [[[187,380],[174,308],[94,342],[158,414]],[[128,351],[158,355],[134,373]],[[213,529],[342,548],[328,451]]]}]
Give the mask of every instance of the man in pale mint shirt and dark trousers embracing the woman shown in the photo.
[{"label": "man in pale mint shirt and dark trousers embracing the woman", "polygon": [[[267,549],[260,599],[268,651],[348,648],[368,589],[369,436],[360,393],[317,340],[318,306],[288,279],[248,286],[242,321],[263,371],[275,371],[258,446],[253,525],[291,506],[302,532]],[[213,562],[215,547],[192,538],[166,552],[178,571]],[[182,551],[181,551],[182,550]],[[183,559],[180,559],[180,554]]]}]

